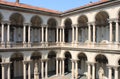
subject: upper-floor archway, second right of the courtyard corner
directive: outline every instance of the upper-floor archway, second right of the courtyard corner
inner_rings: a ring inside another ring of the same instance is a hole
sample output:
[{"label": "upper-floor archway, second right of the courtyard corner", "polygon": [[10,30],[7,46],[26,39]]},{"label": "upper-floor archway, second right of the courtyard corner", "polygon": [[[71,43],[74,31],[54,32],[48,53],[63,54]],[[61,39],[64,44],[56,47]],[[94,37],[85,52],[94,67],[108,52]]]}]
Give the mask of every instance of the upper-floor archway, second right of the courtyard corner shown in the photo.
[{"label": "upper-floor archway, second right of the courtyard corner", "polygon": [[78,37],[79,42],[85,42],[88,40],[88,18],[85,15],[81,15],[78,18]]}]

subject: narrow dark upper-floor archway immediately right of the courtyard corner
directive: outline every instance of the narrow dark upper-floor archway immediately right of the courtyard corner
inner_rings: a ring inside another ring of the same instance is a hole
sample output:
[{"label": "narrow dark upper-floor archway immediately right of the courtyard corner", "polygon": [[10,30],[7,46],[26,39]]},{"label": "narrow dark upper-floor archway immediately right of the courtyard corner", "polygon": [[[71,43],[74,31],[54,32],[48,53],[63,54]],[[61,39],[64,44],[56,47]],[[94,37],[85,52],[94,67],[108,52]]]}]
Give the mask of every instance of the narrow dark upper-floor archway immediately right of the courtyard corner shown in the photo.
[{"label": "narrow dark upper-floor archway immediately right of the courtyard corner", "polygon": [[72,42],[72,20],[67,18],[64,22],[65,28],[65,42]]}]

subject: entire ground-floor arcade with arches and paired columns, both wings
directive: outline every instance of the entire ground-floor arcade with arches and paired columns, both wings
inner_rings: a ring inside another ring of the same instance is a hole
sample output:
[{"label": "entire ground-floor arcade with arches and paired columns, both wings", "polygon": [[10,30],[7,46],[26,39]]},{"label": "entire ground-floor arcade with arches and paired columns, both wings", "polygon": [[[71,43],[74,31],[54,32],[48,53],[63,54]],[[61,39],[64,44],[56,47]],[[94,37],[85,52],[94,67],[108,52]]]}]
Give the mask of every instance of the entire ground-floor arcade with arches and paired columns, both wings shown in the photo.
[{"label": "entire ground-floor arcade with arches and paired columns, both wings", "polygon": [[[51,76],[65,76],[69,73],[71,79],[81,79],[83,76],[87,79],[120,78],[119,54],[114,54],[115,58],[111,60],[110,56],[112,54],[110,53],[101,54],[71,50],[59,50],[59,52],[1,53],[0,78],[33,79],[36,72],[38,72],[41,79],[50,78]],[[116,60],[118,60],[117,63],[115,63]]]}]

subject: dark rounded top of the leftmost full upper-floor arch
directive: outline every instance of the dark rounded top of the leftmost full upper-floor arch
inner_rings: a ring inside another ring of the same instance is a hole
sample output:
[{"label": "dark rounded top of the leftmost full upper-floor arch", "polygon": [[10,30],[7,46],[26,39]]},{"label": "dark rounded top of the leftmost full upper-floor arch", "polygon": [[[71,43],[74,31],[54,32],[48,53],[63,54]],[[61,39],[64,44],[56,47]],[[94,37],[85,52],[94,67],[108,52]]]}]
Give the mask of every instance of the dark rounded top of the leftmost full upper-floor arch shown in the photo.
[{"label": "dark rounded top of the leftmost full upper-floor arch", "polygon": [[23,25],[25,18],[22,14],[20,13],[13,13],[10,18],[9,18],[10,22],[12,25]]}]

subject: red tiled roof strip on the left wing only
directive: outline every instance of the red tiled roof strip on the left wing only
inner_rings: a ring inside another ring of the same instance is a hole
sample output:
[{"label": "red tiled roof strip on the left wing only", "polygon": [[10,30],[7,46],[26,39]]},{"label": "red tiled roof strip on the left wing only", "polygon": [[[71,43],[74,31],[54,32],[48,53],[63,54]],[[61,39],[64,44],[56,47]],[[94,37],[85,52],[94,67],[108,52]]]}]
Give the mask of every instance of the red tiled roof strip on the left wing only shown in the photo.
[{"label": "red tiled roof strip on the left wing only", "polygon": [[15,6],[15,7],[21,7],[21,8],[27,8],[27,9],[41,10],[41,11],[44,11],[44,12],[50,12],[50,13],[56,13],[56,14],[60,13],[59,11],[50,10],[50,9],[46,9],[46,8],[35,7],[35,6],[26,5],[26,4],[22,4],[22,3],[0,1],[0,4]]}]

